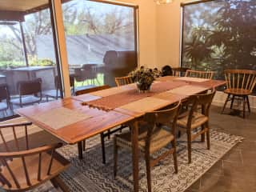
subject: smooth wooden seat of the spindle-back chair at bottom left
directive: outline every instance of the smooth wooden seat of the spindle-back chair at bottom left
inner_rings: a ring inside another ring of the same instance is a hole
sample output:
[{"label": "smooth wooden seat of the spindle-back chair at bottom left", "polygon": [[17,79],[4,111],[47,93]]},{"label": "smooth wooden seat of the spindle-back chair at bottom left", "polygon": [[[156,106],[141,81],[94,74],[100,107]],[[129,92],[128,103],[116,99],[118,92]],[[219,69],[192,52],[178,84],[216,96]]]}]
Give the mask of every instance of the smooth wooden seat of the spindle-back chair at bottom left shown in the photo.
[{"label": "smooth wooden seat of the spindle-back chair at bottom left", "polygon": [[[30,182],[32,186],[37,186],[42,183],[46,179],[54,178],[58,175],[62,170],[65,170],[69,165],[69,162],[63,158],[60,154],[55,153],[53,158],[53,163],[50,170],[50,175],[47,175],[47,170],[50,165],[50,154],[42,153],[42,164],[41,164],[41,181],[38,181],[38,154],[30,155],[25,158],[26,168],[28,170]],[[18,180],[19,185],[22,190],[28,188],[26,183],[26,175],[24,172],[24,166],[22,165],[22,158],[13,158],[13,161],[8,162],[10,166],[10,170],[13,171],[15,177]],[[17,189],[14,179],[11,177],[10,172],[7,170],[6,166],[2,166],[2,175],[6,177],[6,179],[10,182],[11,188],[7,185],[2,186],[5,190],[14,190]]]}]

